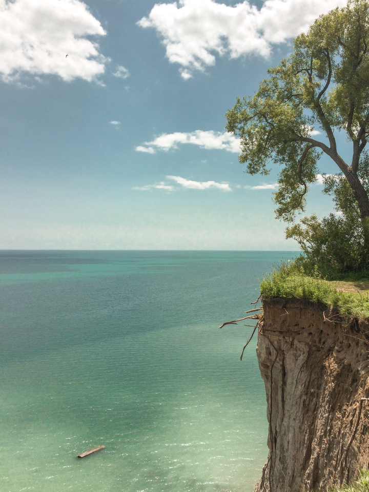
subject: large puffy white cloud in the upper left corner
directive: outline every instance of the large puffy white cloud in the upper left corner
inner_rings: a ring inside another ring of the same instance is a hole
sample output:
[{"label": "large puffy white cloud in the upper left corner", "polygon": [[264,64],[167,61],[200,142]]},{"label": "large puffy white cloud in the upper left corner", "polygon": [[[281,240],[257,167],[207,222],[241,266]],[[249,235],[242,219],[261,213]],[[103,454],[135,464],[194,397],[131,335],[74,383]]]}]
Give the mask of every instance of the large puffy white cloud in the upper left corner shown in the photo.
[{"label": "large puffy white cloud in the upper left corner", "polygon": [[10,82],[28,72],[94,80],[110,60],[86,36],[105,34],[79,0],[0,0],[0,77]]}]

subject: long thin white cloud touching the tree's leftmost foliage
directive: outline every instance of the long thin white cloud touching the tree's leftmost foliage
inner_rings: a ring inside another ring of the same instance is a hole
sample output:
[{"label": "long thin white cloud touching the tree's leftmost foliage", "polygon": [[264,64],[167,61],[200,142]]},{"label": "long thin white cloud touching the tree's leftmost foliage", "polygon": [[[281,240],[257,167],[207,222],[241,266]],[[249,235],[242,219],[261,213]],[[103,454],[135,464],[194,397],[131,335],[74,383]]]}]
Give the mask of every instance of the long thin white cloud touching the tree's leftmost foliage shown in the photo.
[{"label": "long thin white cloud touching the tree's leftmost foliage", "polygon": [[177,149],[178,144],[198,145],[202,149],[223,149],[228,152],[240,151],[239,138],[231,133],[196,130],[191,133],[164,133],[151,142],[145,142],[144,146],[136,147],[138,152],[154,154],[156,150],[168,151]]}]

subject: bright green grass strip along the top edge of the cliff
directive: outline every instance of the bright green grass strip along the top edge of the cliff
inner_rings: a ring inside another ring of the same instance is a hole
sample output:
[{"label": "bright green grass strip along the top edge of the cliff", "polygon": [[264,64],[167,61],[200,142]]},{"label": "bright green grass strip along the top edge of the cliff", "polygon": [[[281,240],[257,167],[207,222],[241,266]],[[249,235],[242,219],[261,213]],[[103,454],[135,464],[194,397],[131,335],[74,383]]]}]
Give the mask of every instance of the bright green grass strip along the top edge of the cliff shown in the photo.
[{"label": "bright green grass strip along the top edge of the cliff", "polygon": [[[294,263],[282,263],[260,282],[264,297],[296,297],[336,307],[344,318],[369,319],[369,279],[324,280],[308,276]],[[369,491],[368,491],[369,492]]]}]

